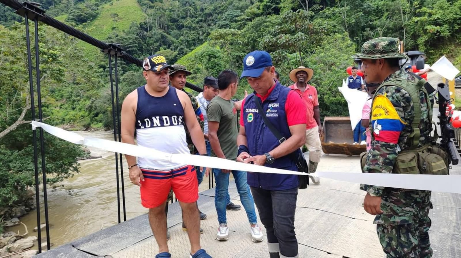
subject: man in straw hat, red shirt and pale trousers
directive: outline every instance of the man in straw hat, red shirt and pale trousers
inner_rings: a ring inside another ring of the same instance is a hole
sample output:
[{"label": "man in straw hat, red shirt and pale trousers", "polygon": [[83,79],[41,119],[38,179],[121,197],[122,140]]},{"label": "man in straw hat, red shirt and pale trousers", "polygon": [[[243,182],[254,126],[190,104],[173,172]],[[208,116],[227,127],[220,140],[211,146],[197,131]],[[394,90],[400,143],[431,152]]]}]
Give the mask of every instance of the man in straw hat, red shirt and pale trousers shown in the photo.
[{"label": "man in straw hat, red shirt and pale trousers", "polygon": [[[320,162],[322,155],[322,144],[320,143],[320,133],[322,126],[320,125],[320,110],[319,98],[317,97],[317,89],[308,85],[307,82],[312,79],[314,70],[300,66],[291,70],[290,80],[295,84],[288,86],[299,93],[304,103],[306,103],[306,148],[309,150],[309,173],[317,170],[317,165]],[[309,176],[314,184],[320,184],[320,178]]]}]

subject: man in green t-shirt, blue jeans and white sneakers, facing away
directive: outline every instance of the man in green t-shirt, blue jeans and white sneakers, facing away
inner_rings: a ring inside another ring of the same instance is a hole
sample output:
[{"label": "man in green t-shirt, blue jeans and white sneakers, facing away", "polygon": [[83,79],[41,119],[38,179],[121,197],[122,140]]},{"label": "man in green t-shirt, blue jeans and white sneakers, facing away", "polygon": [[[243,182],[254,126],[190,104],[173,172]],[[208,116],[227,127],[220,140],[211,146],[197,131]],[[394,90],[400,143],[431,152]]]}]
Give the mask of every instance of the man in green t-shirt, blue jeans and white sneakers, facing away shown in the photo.
[{"label": "man in green t-shirt, blue jeans and white sneakers, facing away", "polygon": [[[237,159],[237,110],[231,98],[236,94],[238,76],[231,70],[224,70],[218,77],[219,94],[207,107],[208,139],[211,144],[211,155],[235,161]],[[238,194],[250,223],[251,238],[254,242],[263,240],[254,210],[253,196],[247,183],[247,172],[216,169],[213,174],[216,180],[214,205],[218,213],[218,240],[229,239],[229,227],[226,220],[226,195],[229,188],[229,173],[235,178]]]}]

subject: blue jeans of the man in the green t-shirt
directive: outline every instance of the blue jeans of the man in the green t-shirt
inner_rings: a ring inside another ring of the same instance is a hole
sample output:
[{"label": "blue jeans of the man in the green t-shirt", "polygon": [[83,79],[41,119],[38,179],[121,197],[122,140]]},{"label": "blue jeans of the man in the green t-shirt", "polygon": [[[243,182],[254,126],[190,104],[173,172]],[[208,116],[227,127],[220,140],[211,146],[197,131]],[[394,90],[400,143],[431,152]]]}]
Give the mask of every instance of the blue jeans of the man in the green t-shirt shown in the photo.
[{"label": "blue jeans of the man in the green t-shirt", "polygon": [[[216,180],[214,206],[216,207],[216,213],[218,213],[219,224],[226,223],[226,196],[229,196],[229,174],[223,173],[219,168],[213,168],[213,174]],[[258,223],[256,218],[256,212],[254,210],[253,196],[250,192],[250,186],[247,183],[247,172],[232,170],[234,175],[235,183],[237,185],[237,192],[240,195],[240,201],[242,202],[245,212],[247,212],[248,221],[250,224]]]}]

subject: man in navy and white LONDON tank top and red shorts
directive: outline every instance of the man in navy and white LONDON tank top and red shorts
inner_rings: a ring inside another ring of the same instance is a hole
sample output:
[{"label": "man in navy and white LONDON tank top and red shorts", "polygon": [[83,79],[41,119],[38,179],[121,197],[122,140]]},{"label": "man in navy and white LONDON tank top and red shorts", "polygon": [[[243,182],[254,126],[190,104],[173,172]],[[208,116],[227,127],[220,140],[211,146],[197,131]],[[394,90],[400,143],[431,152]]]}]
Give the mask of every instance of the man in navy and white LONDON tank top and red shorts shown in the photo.
[{"label": "man in navy and white LONDON tank top and red shorts", "polygon": [[[122,142],[153,148],[165,153],[189,154],[184,125],[200,155],[207,155],[205,139],[186,93],[169,86],[170,65],[154,55],[142,65],[146,84],[137,88],[122,104]],[[130,181],[140,186],[141,204],[149,209],[149,224],[159,245],[155,258],[171,258],[166,243],[165,204],[173,189],[187,225],[190,258],[211,258],[200,247],[200,216],[197,207],[198,182],[195,167],[125,155]],[[179,254],[178,254],[179,255]]]}]

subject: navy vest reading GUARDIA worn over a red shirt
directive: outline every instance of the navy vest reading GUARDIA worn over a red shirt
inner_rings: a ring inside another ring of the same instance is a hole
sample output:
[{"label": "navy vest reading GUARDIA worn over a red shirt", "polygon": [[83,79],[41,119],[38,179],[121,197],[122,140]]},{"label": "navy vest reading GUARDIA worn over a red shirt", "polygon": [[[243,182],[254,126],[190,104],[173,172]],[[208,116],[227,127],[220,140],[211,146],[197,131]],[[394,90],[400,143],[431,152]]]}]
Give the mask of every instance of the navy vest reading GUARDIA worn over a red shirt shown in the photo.
[{"label": "navy vest reading GUARDIA worn over a red shirt", "polygon": [[[266,110],[268,120],[287,139],[290,138],[291,133],[285,114],[285,102],[290,91],[290,88],[284,87],[277,82],[269,97],[262,103],[262,108]],[[264,155],[280,145],[278,139],[264,124],[264,120],[259,115],[255,103],[257,98],[254,94],[248,95],[242,107],[248,150],[252,156]],[[278,158],[271,165],[266,164],[265,166],[297,171],[295,162],[289,155]],[[298,187],[299,183],[297,175],[248,172],[247,179],[250,186],[266,190],[292,189]]]}]

